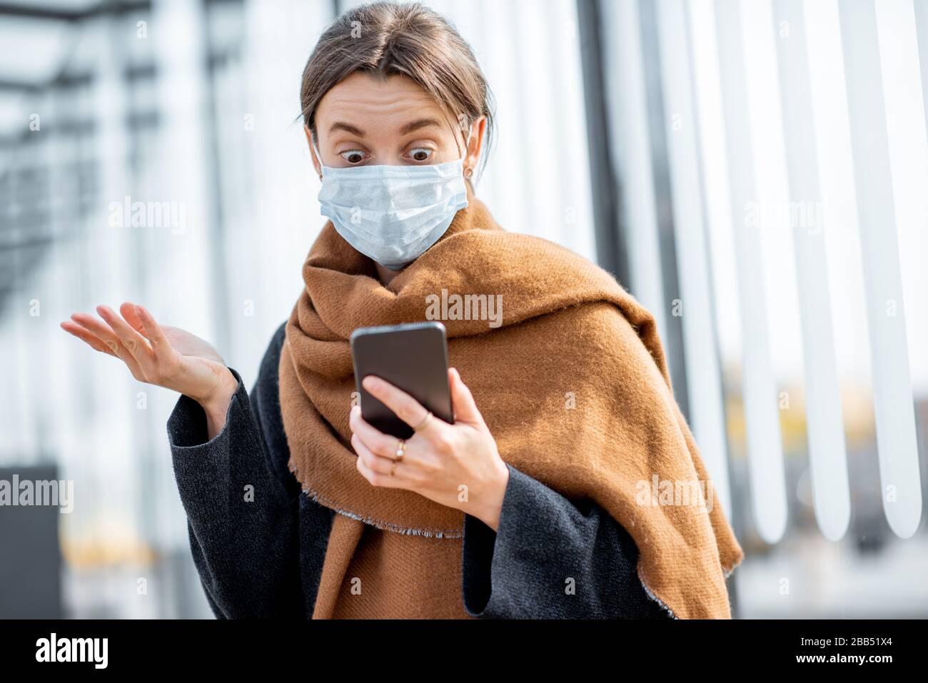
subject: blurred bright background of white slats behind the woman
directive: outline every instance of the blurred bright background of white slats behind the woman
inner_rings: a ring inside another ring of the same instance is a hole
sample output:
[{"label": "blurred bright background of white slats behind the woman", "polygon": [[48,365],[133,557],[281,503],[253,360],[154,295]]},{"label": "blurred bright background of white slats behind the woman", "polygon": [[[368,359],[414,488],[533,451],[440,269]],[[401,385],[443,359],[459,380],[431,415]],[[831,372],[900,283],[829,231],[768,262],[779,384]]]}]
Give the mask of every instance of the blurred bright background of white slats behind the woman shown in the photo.
[{"label": "blurred bright background of white slats behind the woman", "polygon": [[[73,483],[0,507],[0,617],[212,616],[177,395],[58,323],[145,303],[251,387],[325,222],[301,73],[351,4],[0,0],[0,480]],[[657,317],[734,615],[928,616],[928,0],[427,4],[496,96],[478,195]]]}]

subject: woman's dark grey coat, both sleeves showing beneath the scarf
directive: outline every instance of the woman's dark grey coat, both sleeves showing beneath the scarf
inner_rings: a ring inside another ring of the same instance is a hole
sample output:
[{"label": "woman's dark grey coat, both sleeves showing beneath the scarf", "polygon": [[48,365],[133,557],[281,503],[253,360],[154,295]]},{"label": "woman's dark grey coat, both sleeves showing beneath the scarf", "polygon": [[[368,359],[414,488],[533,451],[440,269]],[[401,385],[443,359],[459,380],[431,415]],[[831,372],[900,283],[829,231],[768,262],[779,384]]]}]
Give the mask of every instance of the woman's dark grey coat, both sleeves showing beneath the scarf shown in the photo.
[{"label": "woman's dark grey coat, both sleeves showing beneath the scarf", "polygon": [[[220,619],[311,616],[338,514],[304,494],[287,467],[277,394],[283,341],[281,325],[251,395],[232,370],[238,391],[212,440],[187,396],[167,423],[190,549]],[[481,618],[669,618],[641,585],[637,561],[634,540],[607,511],[509,466],[498,531],[465,516],[464,605]]]}]

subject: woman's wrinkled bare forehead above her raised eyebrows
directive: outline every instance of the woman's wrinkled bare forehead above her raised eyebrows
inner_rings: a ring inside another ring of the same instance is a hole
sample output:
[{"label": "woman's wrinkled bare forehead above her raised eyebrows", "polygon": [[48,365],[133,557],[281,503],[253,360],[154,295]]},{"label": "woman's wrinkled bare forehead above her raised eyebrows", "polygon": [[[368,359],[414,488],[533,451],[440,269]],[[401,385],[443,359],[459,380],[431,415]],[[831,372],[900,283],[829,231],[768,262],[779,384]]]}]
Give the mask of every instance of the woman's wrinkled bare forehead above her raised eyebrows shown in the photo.
[{"label": "woman's wrinkled bare forehead above her raised eyebrows", "polygon": [[333,122],[352,123],[368,135],[390,135],[413,119],[433,117],[444,122],[447,116],[411,78],[395,74],[380,81],[355,71],[322,97],[316,126],[319,135],[328,135]]}]

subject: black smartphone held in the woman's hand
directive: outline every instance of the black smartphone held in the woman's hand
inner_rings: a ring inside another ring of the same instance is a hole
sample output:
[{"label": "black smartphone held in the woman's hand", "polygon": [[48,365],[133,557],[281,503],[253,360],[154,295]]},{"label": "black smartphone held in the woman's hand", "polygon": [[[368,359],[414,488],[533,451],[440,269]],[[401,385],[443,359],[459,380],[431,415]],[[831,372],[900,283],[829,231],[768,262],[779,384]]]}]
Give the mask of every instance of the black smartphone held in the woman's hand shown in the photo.
[{"label": "black smartphone held in the woman's hand", "polygon": [[448,345],[440,322],[358,328],[351,335],[354,382],[361,415],[380,432],[408,439],[415,433],[393,410],[367,393],[361,380],[376,375],[402,389],[435,418],[454,423],[448,386]]}]

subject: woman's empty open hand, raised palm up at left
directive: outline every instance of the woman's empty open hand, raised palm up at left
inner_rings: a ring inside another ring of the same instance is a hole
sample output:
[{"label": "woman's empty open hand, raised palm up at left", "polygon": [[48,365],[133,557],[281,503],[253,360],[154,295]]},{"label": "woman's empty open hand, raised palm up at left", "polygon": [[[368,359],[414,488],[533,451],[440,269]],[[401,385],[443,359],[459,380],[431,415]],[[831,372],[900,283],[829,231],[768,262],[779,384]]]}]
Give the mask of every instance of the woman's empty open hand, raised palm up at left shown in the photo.
[{"label": "woman's empty open hand, raised palm up at left", "polygon": [[138,381],[183,393],[203,407],[209,438],[226,423],[226,412],[238,380],[209,344],[184,329],[159,325],[134,303],[120,306],[122,317],[109,306],[97,306],[96,316],[71,315],[61,328],[100,353],[122,360]]}]

